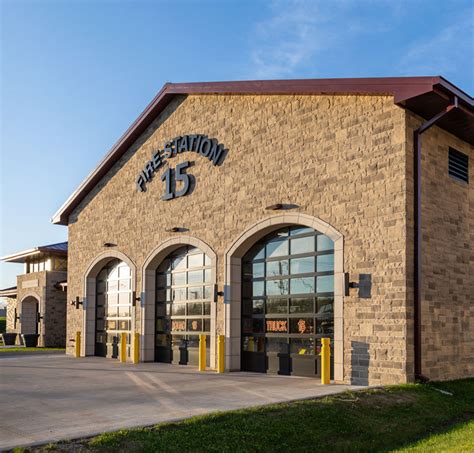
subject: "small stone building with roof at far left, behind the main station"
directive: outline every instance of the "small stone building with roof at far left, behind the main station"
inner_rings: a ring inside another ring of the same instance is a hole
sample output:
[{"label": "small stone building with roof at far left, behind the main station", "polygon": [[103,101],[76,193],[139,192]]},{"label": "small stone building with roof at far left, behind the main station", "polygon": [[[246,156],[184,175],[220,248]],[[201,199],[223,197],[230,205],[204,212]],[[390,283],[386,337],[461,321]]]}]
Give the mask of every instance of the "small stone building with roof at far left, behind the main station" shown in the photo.
[{"label": "small stone building with roof at far left, behind the main station", "polygon": [[38,345],[66,344],[67,242],[35,247],[0,258],[22,263],[17,286],[0,290],[7,302],[7,332],[37,334]]}]

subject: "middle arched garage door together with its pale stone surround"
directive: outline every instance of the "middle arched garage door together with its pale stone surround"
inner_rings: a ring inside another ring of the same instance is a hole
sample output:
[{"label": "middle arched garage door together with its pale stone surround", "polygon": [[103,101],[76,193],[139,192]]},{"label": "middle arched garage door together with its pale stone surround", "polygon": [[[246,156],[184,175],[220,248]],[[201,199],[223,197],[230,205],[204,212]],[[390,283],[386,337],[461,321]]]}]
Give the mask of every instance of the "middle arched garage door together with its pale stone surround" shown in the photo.
[{"label": "middle arched garage door together with its pale stone surround", "polygon": [[[169,238],[148,255],[141,297],[143,361],[194,364],[197,357],[191,349],[203,333],[208,365],[215,367],[216,268],[215,252],[193,236]],[[180,346],[188,348],[183,360]]]}]

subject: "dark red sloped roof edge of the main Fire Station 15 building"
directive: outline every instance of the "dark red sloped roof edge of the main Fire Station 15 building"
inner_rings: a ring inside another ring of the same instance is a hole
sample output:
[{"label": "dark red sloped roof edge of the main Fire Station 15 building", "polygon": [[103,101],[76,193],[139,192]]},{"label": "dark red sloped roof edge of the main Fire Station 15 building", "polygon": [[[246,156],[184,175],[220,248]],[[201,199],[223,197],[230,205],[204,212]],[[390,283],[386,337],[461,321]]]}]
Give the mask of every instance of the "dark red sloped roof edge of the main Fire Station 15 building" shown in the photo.
[{"label": "dark red sloped roof edge of the main Fire Station 15 building", "polygon": [[457,97],[459,108],[445,115],[437,125],[474,144],[474,100],[441,76],[167,83],[51,221],[67,225],[69,214],[171,100],[177,95],[189,94],[389,95],[393,96],[395,104],[426,119],[439,113]]}]

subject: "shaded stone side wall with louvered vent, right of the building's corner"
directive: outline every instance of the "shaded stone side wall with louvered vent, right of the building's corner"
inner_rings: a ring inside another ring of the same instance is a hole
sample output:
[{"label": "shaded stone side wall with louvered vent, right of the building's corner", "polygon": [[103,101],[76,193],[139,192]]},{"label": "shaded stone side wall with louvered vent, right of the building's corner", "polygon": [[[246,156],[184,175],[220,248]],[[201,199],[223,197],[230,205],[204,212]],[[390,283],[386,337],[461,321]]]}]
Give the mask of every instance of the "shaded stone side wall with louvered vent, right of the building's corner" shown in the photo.
[{"label": "shaded stone side wall with louvered vent, right of the building's corner", "polygon": [[[408,181],[413,180],[413,131],[422,122],[407,112]],[[450,146],[469,156],[469,184],[449,176]],[[422,135],[422,374],[433,380],[474,375],[473,167],[468,143],[436,126]],[[411,276],[412,184],[407,202]],[[413,279],[408,284],[412,305]]]}]

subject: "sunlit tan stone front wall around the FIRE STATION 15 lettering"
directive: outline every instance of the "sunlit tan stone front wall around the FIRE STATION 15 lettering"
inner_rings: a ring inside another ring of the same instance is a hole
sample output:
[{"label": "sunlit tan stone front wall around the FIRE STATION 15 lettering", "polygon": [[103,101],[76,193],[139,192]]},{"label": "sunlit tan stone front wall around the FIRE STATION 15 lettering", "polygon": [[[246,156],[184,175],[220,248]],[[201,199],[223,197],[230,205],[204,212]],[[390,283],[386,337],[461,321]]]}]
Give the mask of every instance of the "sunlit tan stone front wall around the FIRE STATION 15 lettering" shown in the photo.
[{"label": "sunlit tan stone front wall around the FIRE STATION 15 lettering", "polygon": [[[195,161],[191,195],[161,201],[159,176],[138,193],[135,178],[151,153],[177,135],[207,134],[229,153],[214,167]],[[224,253],[266,206],[297,205],[294,213],[320,218],[344,236],[344,269],[352,281],[372,278],[372,297],[344,298],[344,380],[370,384],[413,378],[407,365],[405,112],[389,96],[189,96],[176,98],[71,214],[68,299],[84,297],[85,272],[117,244],[137,267],[142,290],[146,256],[178,234]],[[137,313],[140,311],[137,310]],[[137,319],[137,325],[139,319]],[[224,329],[219,300],[217,333]],[[68,306],[68,334],[82,330],[83,312]],[[68,345],[68,353],[73,344]]]}]

